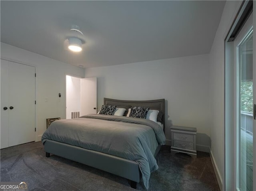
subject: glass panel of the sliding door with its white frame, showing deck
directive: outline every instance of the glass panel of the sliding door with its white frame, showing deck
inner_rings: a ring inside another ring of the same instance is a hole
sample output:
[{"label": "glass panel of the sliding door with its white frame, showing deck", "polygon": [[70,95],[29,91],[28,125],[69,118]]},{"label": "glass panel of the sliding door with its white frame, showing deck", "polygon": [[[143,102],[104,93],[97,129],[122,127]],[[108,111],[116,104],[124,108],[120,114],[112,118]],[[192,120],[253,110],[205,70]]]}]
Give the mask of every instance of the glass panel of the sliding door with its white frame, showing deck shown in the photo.
[{"label": "glass panel of the sliding door with its white frame, showing deck", "polygon": [[[251,23],[250,23],[251,22]],[[234,42],[236,60],[236,189],[253,191],[253,28],[252,16]]]}]

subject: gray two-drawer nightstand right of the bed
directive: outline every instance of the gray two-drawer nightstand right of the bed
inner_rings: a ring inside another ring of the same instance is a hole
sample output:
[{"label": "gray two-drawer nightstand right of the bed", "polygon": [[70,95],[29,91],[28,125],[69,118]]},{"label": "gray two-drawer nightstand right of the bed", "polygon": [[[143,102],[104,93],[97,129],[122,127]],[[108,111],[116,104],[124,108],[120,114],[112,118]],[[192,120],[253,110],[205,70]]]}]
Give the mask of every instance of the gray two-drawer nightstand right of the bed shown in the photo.
[{"label": "gray two-drawer nightstand right of the bed", "polygon": [[196,156],[196,128],[172,126],[171,152],[182,152]]}]

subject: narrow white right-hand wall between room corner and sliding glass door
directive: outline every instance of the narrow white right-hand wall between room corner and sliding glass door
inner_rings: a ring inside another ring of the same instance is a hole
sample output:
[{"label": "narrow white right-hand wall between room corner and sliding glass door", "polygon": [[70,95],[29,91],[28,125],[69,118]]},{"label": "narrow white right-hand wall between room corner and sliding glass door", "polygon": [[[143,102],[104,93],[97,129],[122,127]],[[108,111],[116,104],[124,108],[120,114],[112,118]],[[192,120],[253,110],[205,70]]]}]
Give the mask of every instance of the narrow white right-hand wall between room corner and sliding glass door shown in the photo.
[{"label": "narrow white right-hand wall between room corner and sliding glass door", "polygon": [[[225,37],[238,12],[241,1],[226,1],[222,18],[209,55],[210,61],[210,128],[211,156],[217,171],[220,187],[224,187],[225,172],[225,116],[224,116],[224,64]],[[223,186],[222,186],[223,185]]]}]

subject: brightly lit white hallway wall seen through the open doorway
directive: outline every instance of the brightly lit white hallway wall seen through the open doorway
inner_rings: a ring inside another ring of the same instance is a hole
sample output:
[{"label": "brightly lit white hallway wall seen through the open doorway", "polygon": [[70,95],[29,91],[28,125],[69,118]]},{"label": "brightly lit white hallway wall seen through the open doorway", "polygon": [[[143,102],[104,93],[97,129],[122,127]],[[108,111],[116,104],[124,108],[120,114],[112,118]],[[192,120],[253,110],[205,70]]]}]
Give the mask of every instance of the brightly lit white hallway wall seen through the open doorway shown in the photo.
[{"label": "brightly lit white hallway wall seen through the open doorway", "polygon": [[66,76],[66,119],[71,119],[71,112],[81,112],[81,79]]}]

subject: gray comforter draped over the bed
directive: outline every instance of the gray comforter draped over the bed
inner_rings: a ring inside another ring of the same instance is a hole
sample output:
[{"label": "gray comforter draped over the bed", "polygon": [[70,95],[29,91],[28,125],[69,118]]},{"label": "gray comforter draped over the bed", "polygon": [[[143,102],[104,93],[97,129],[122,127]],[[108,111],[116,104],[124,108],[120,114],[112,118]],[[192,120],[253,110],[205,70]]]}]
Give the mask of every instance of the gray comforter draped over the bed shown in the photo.
[{"label": "gray comforter draped over the bed", "polygon": [[153,154],[158,145],[165,144],[164,132],[156,122],[98,114],[56,120],[44,132],[42,142],[46,140],[136,161],[147,189],[150,173],[158,169]]}]

